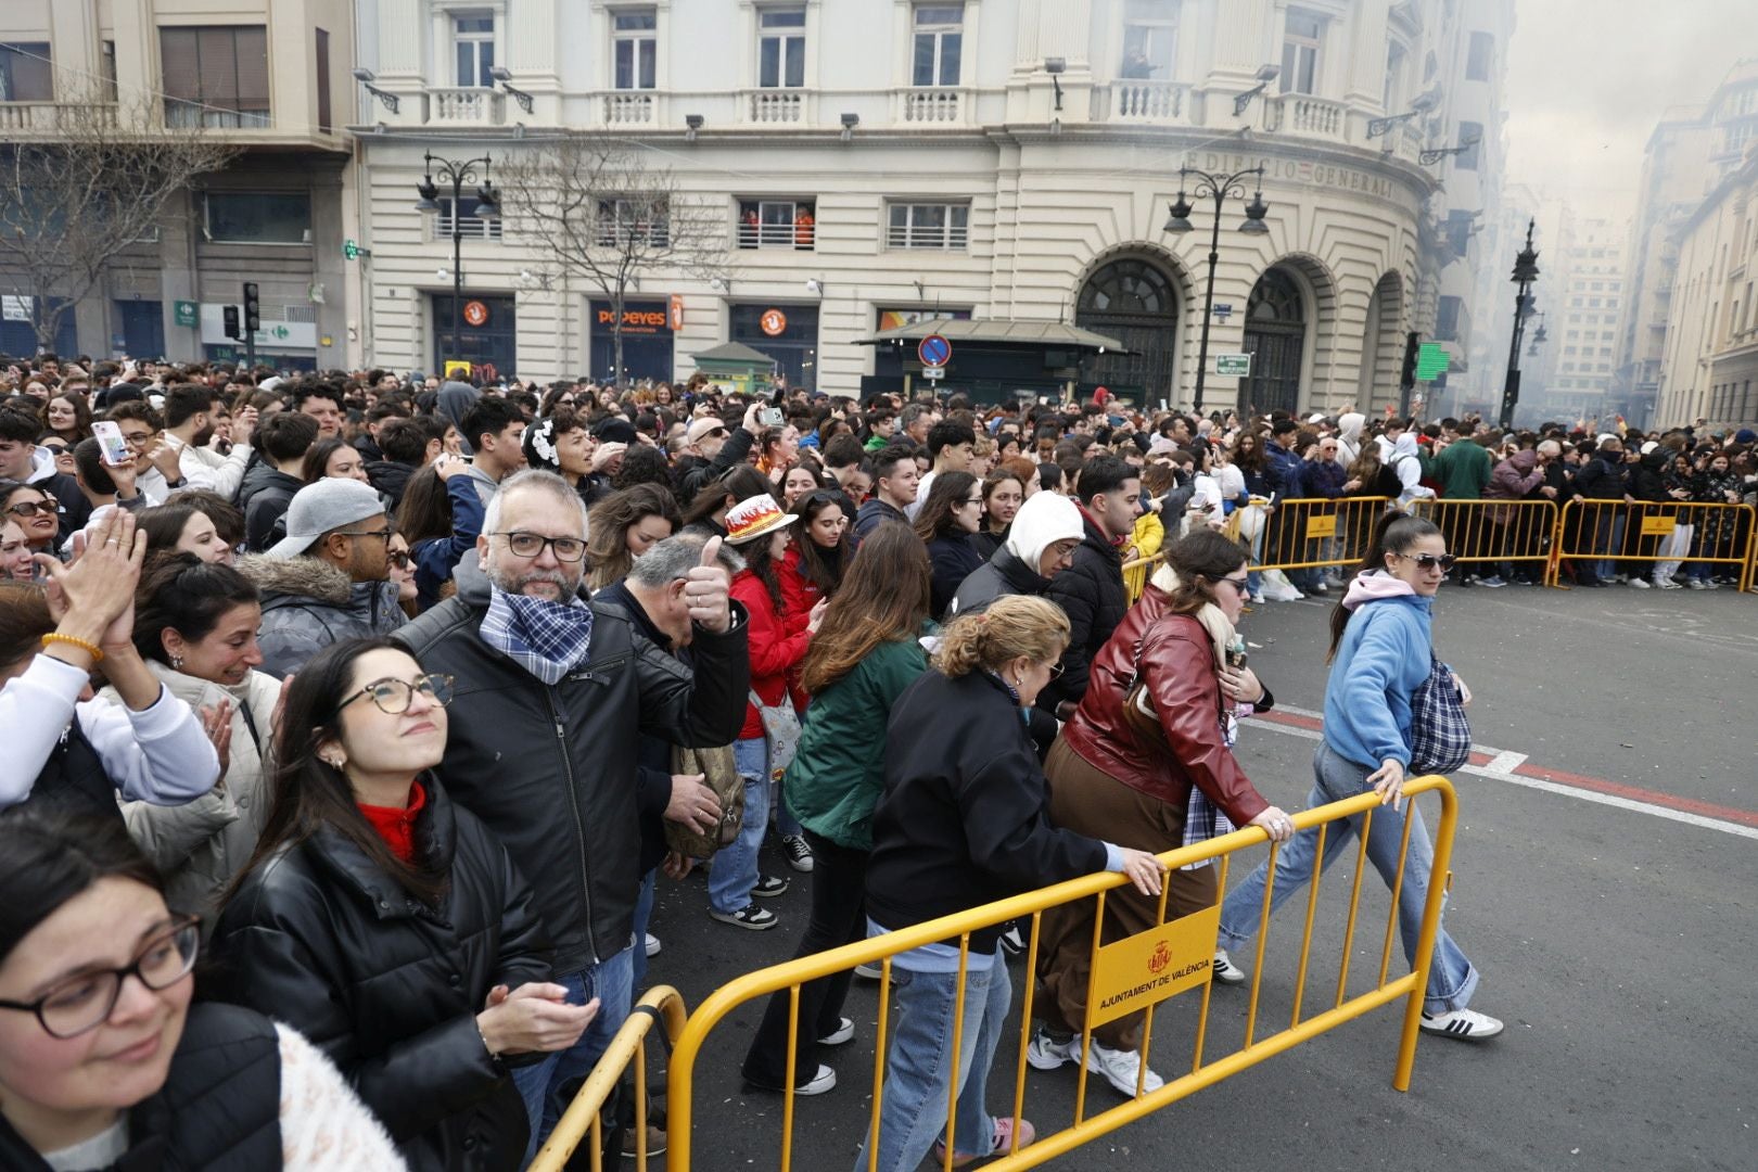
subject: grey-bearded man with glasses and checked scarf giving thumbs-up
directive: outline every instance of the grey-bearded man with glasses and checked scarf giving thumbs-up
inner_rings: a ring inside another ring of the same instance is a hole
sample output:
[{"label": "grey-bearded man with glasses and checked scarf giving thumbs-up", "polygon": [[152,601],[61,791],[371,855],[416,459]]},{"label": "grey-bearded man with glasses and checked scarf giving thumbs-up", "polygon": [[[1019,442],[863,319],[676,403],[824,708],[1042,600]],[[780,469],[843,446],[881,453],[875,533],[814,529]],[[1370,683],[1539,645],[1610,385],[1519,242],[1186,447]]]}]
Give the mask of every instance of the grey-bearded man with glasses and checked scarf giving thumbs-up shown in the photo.
[{"label": "grey-bearded man with glasses and checked scarf giving thumbs-up", "polygon": [[[513,1072],[531,1149],[554,1128],[633,1002],[640,891],[640,738],[716,747],[738,738],[751,687],[744,610],[730,601],[721,541],[682,576],[691,669],[628,610],[585,599],[585,506],[566,480],[527,469],[489,503],[457,596],[396,638],[454,676],[440,777],[489,824],[536,893],[568,1000],[599,998],[580,1042]],[[675,638],[675,636],[673,636]],[[647,1151],[665,1151],[663,1135]]]}]

